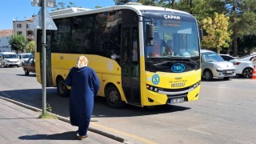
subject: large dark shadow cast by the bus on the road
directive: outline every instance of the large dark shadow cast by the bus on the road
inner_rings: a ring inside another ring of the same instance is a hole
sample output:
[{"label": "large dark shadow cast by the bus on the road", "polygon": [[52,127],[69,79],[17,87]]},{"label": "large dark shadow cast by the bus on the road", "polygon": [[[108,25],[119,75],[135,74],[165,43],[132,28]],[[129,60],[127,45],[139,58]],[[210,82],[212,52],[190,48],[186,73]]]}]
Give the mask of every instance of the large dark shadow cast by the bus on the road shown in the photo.
[{"label": "large dark shadow cast by the bus on the road", "polygon": [[[4,90],[0,91],[0,95],[5,98],[13,99],[14,101],[25,103],[29,106],[42,109],[42,90],[27,89],[27,90]],[[47,88],[46,104],[50,105],[51,112],[62,117],[69,117],[69,98],[60,97],[57,94],[56,88]],[[111,117],[133,117],[151,114],[166,114],[174,113],[182,110],[189,110],[190,107],[178,105],[164,105],[151,107],[138,107],[126,105],[122,109],[113,109],[106,103],[106,98],[95,97],[94,112],[92,118],[111,118]]]}]

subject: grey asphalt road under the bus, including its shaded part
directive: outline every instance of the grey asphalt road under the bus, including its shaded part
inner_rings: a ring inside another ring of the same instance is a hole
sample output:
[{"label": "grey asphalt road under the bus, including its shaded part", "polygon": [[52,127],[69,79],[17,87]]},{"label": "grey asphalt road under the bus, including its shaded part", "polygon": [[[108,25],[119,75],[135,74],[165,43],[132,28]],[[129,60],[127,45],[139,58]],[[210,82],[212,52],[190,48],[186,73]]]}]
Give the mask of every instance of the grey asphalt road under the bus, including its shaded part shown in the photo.
[{"label": "grey asphalt road under the bus, including its shaded part", "polygon": [[[69,98],[47,88],[52,112],[69,117]],[[21,67],[0,69],[0,95],[42,108],[42,86]],[[202,82],[198,101],[154,109],[111,109],[95,98],[90,126],[125,138],[127,143],[256,143],[256,79]]]}]

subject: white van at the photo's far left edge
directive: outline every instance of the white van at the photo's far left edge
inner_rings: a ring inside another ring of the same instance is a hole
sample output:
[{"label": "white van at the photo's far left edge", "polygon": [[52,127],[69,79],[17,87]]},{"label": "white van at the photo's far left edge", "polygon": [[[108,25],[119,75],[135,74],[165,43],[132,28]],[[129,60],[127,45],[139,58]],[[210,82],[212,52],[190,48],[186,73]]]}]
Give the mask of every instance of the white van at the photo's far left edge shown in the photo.
[{"label": "white van at the photo's far left edge", "polygon": [[1,52],[0,53],[0,62],[2,62],[2,66],[20,66],[20,62],[15,53],[13,52]]}]

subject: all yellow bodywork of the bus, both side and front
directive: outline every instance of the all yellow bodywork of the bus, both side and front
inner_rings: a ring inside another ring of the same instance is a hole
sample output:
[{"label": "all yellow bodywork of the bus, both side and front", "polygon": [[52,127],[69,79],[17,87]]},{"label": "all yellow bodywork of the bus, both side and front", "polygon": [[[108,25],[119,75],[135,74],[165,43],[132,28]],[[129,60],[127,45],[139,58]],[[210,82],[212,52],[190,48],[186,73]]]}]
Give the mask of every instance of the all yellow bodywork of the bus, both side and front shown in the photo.
[{"label": "all yellow bodywork of the bus, both side and front", "polygon": [[[126,97],[122,90],[122,79],[121,79],[121,67],[118,63],[111,59],[105,58],[98,55],[90,55],[90,54],[51,54],[51,72],[53,78],[53,85],[56,86],[56,79],[60,76],[66,79],[67,74],[70,71],[70,68],[76,65],[78,57],[80,55],[85,55],[88,60],[88,66],[92,67],[98,78],[100,80],[100,90],[98,91],[98,95],[104,97],[105,96],[105,88],[108,84],[113,84],[116,86],[121,94],[122,101],[126,102]],[[39,53],[35,54],[36,56],[36,75],[39,83],[41,82],[41,74],[40,74],[40,62],[39,62]],[[141,57],[141,63],[144,62],[144,57]],[[157,105],[165,105],[168,97],[166,94],[158,94],[154,91],[150,91],[146,89],[146,84],[151,86],[158,86],[166,89],[181,89],[187,86],[191,86],[196,82],[201,81],[201,69],[192,70],[189,72],[182,73],[164,73],[164,72],[148,72],[145,71],[145,66],[141,65],[141,77],[140,77],[140,85],[141,85],[141,105],[142,106],[157,106]],[[154,74],[158,74],[160,81],[158,85],[154,85],[152,82],[152,77]],[[174,83],[184,83],[184,86],[181,87],[171,87],[171,84]],[[200,86],[190,91],[187,94],[188,101],[194,101],[198,99],[198,94],[200,91]],[[149,98],[153,100],[153,102],[149,101]]]}]

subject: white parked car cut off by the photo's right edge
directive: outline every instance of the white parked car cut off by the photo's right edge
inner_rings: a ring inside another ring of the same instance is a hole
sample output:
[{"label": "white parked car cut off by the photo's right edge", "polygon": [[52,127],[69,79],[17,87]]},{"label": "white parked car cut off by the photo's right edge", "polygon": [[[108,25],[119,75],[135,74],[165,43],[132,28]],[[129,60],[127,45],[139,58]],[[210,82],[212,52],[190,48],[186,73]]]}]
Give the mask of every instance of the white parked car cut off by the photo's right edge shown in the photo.
[{"label": "white parked car cut off by the photo's right edge", "polygon": [[251,59],[256,58],[256,54],[246,55],[242,58],[234,58],[226,54],[220,55],[224,60],[234,63],[236,74],[242,76],[243,78],[252,78],[254,64],[251,62]]}]

